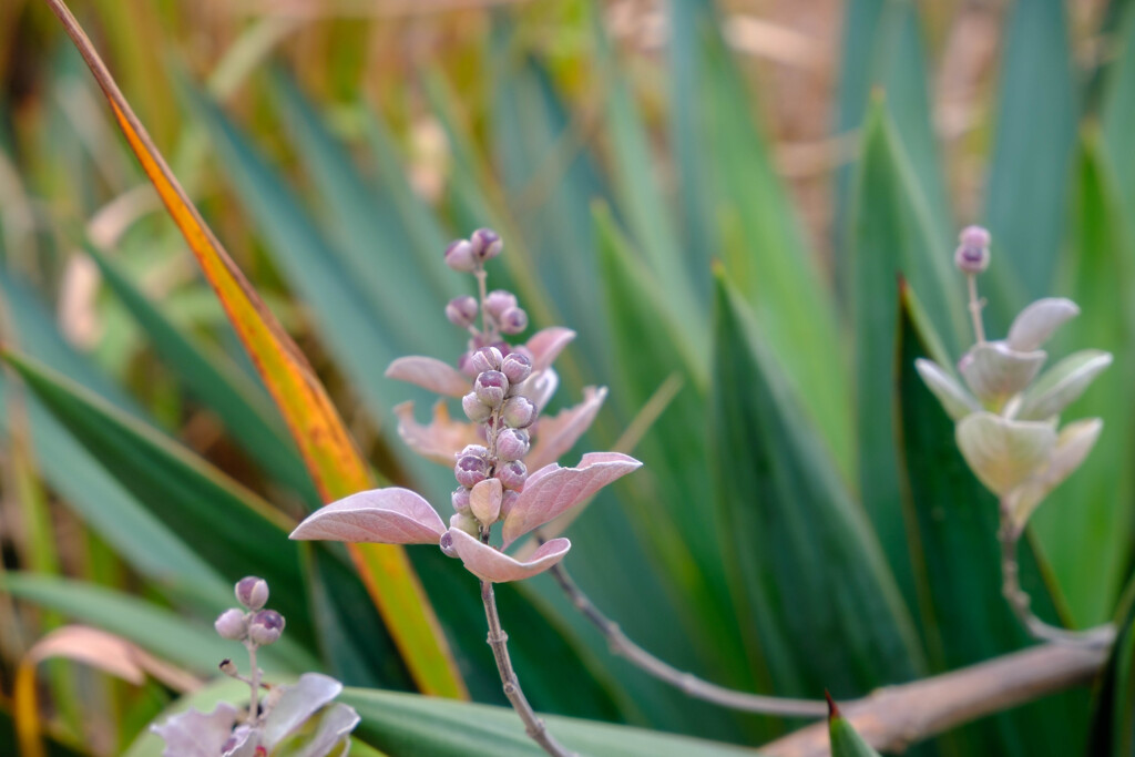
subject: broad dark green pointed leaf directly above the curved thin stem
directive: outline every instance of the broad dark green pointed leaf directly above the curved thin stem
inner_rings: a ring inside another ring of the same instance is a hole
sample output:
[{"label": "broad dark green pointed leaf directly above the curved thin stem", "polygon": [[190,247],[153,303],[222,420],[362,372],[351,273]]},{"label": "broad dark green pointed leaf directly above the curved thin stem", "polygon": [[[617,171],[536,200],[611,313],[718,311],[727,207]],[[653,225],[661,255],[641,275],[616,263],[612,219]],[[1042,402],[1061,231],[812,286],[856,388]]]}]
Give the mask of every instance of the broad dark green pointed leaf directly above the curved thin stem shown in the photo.
[{"label": "broad dark green pointed leaf directly above the curved thin stem", "polygon": [[789,696],[914,678],[913,624],[865,514],[721,278],[715,353],[712,472],[750,664]]}]

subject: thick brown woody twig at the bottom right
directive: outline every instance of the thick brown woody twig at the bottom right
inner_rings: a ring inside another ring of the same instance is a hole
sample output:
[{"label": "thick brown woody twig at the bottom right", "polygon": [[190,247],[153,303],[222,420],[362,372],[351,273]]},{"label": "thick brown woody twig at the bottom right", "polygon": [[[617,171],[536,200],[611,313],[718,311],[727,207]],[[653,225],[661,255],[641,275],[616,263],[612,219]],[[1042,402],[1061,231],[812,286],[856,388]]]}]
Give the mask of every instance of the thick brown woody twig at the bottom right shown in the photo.
[{"label": "thick brown woody twig at the bottom right", "polygon": [[[985,715],[1088,683],[1108,646],[1050,644],[875,693],[840,707],[872,747],[909,745]],[[827,725],[809,725],[765,745],[765,757],[827,757]]]}]

